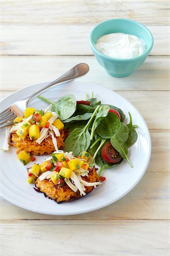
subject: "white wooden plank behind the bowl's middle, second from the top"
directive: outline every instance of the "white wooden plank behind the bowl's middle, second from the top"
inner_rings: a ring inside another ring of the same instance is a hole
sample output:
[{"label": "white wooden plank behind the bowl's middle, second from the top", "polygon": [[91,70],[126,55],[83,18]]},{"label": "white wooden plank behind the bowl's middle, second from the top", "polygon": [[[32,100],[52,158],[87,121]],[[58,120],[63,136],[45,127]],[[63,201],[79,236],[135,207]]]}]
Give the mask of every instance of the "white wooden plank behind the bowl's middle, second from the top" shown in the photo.
[{"label": "white wooden plank behind the bowl's middle, second from the top", "polygon": [[[2,55],[92,55],[89,44],[92,24],[3,24]],[[148,26],[154,36],[150,55],[169,55],[169,26]],[[43,32],[42,32],[43,31]],[[71,35],[71,36],[70,36]]]}]

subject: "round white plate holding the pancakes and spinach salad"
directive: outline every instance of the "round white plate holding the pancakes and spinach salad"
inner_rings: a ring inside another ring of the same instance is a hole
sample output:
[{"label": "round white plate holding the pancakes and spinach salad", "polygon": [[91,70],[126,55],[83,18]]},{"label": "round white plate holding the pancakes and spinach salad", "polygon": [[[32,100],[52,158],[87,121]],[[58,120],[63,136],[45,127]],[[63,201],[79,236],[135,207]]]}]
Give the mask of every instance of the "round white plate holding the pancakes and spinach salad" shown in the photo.
[{"label": "round white plate holding the pancakes and spinach salad", "polygon": [[[1,109],[5,109],[12,102],[30,96],[45,84],[32,85],[27,88],[12,93],[1,102]],[[27,183],[27,171],[16,159],[15,148],[10,147],[8,152],[0,152],[1,162],[1,195],[10,203],[18,207],[31,210],[32,212],[53,214],[53,215],[70,215],[91,212],[103,208],[115,201],[121,199],[131,191],[145,174],[151,155],[151,139],[147,125],[137,109],[129,101],[125,100],[119,94],[112,92],[100,85],[90,84],[87,82],[72,81],[59,85],[44,93],[44,97],[52,101],[57,101],[59,97],[66,94],[74,94],[76,100],[83,100],[85,94],[89,95],[94,92],[94,97],[101,100],[103,104],[112,104],[122,109],[128,117],[131,113],[133,123],[137,124],[138,140],[129,149],[129,158],[134,168],[124,160],[120,166],[105,170],[103,176],[106,180],[89,195],[80,200],[69,203],[57,204],[53,200],[46,199],[42,193],[37,193],[32,185]],[[44,109],[48,104],[36,98],[30,106],[37,109]],[[5,138],[5,129],[0,129],[0,146],[2,147]],[[36,162],[40,163],[47,156],[36,157]],[[32,163],[27,164],[27,167]]]}]

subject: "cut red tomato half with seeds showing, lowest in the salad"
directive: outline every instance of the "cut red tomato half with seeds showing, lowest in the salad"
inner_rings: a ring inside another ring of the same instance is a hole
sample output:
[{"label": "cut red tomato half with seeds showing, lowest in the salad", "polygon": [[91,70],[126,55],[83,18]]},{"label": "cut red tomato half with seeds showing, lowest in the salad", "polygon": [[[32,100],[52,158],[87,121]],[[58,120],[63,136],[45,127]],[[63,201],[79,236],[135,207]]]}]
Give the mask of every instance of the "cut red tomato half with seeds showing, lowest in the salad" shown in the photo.
[{"label": "cut red tomato half with seeds showing, lowest in the salad", "polygon": [[106,143],[101,150],[101,157],[109,164],[115,164],[120,162],[122,156],[112,146],[111,142]]}]

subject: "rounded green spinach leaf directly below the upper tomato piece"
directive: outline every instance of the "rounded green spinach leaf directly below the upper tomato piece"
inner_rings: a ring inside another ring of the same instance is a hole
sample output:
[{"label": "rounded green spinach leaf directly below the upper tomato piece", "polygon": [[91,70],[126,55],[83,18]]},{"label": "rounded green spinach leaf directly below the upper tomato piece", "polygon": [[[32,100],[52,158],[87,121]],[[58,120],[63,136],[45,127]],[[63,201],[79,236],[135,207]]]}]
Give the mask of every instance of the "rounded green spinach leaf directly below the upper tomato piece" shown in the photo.
[{"label": "rounded green spinach leaf directly below the upper tomato piece", "polygon": [[112,138],[120,130],[121,122],[114,113],[108,113],[107,117],[101,120],[100,125],[96,128],[96,133],[105,139]]}]

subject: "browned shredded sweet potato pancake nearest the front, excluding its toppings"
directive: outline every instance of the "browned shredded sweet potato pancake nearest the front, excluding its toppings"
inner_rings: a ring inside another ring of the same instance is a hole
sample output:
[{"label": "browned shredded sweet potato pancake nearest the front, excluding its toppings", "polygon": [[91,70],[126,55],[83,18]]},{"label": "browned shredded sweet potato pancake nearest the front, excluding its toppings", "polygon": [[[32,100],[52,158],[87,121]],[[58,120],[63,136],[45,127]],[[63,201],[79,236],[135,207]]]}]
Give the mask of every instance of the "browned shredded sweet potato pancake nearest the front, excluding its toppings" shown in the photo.
[{"label": "browned shredded sweet potato pancake nearest the front, excluding its toppings", "polygon": [[[97,175],[95,167],[92,170],[89,168],[88,171],[88,176],[82,177],[84,181],[90,183],[99,181],[99,176]],[[55,200],[57,203],[62,203],[63,201],[72,201],[82,197],[79,191],[74,192],[66,183],[61,186],[54,185],[54,183],[49,181],[49,179],[42,181],[37,179],[35,184],[36,188],[39,188],[40,191],[44,193],[44,195],[48,196],[50,199]],[[85,188],[85,192],[88,194],[94,189],[94,186],[86,187],[85,185]]]}]

